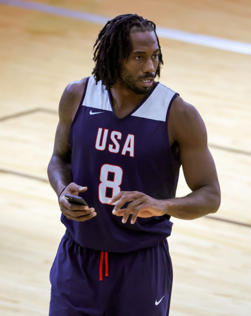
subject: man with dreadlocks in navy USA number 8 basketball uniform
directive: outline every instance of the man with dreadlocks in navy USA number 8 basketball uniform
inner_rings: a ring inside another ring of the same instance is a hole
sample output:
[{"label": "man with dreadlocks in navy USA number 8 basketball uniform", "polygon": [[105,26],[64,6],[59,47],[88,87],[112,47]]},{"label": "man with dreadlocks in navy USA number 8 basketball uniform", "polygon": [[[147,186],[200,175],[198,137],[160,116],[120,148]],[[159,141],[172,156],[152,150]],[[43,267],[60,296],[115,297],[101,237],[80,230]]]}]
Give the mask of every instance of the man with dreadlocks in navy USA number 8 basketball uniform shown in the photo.
[{"label": "man with dreadlocks in navy USA number 8 basketball uniform", "polygon": [[[206,128],[193,106],[154,81],[163,61],[152,21],[117,16],[94,48],[94,76],[63,92],[48,166],[67,228],[51,268],[49,315],[166,316],[170,216],[195,219],[220,204]],[[192,193],[175,198],[181,164]]]}]

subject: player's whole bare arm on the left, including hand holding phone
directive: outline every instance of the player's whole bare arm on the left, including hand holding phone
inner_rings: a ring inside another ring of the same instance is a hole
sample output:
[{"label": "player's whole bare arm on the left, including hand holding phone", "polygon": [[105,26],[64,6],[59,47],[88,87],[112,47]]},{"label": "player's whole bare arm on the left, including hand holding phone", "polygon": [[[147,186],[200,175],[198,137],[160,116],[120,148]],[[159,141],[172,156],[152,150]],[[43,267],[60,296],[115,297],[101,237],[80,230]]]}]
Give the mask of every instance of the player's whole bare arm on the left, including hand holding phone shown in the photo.
[{"label": "player's whole bare arm on the left, including hand holding phone", "polygon": [[[59,103],[59,123],[55,136],[53,154],[48,165],[48,177],[59,197],[60,210],[71,220],[87,221],[97,215],[93,208],[69,203],[63,193],[78,195],[87,187],[72,182],[71,150],[67,138],[84,91],[86,79],[70,83],[64,90]],[[63,191],[62,191],[63,190]]]}]

